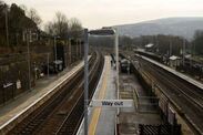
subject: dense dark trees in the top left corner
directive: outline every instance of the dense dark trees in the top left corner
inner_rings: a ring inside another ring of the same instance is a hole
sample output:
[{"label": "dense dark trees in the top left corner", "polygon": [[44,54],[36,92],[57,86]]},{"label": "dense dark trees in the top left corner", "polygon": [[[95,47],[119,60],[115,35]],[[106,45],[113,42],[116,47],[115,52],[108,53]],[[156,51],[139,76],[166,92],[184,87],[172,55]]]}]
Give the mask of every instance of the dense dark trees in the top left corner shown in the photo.
[{"label": "dense dark trees in the top left corner", "polygon": [[27,29],[38,30],[37,23],[31,20],[23,9],[16,3],[10,7],[0,1],[0,45],[17,45]]}]

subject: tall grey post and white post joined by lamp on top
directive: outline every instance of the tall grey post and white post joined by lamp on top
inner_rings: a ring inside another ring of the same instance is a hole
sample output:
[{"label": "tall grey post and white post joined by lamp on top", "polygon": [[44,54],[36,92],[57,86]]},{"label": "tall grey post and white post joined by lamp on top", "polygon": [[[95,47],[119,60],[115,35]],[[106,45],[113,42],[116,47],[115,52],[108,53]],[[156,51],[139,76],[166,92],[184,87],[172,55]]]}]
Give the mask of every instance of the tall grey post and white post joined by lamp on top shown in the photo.
[{"label": "tall grey post and white post joined by lamp on top", "polygon": [[84,135],[88,135],[88,87],[89,87],[89,77],[88,77],[88,53],[89,53],[89,35],[99,35],[99,37],[114,37],[115,45],[115,56],[116,56],[116,89],[118,89],[118,100],[119,100],[119,37],[118,32],[113,28],[102,28],[98,30],[84,29]]}]

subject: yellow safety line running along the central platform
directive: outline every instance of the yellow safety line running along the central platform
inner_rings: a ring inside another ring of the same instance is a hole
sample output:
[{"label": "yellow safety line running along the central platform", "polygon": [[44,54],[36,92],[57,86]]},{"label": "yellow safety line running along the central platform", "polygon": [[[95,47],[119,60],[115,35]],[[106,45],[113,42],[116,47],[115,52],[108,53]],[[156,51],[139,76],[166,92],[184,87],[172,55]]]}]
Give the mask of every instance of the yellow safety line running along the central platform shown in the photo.
[{"label": "yellow safety line running along the central platform", "polygon": [[[108,74],[109,74],[109,70],[110,70],[109,62],[110,62],[109,58],[106,58],[106,68],[105,68],[105,72],[103,74],[102,87],[100,89],[98,100],[103,100],[105,96]],[[98,121],[100,118],[100,114],[101,114],[101,107],[93,108],[93,115],[92,115],[92,120],[91,120],[90,127],[89,127],[89,135],[95,134],[95,129],[97,129]]]}]

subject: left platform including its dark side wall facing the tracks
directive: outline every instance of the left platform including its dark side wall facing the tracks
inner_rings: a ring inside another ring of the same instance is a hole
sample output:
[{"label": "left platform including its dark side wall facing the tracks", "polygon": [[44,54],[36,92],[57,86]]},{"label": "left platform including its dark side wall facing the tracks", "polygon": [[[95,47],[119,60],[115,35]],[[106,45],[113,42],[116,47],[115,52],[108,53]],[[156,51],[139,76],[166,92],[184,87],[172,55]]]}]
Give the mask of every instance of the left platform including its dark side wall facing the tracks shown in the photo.
[{"label": "left platform including its dark side wall facing the tracks", "polygon": [[60,85],[82,69],[83,64],[83,62],[78,62],[58,75],[39,80],[30,92],[23,93],[14,101],[0,106],[0,134],[4,134],[9,128],[12,128],[20,121],[20,117],[24,117],[30,110],[33,111],[38,104],[42,104],[53,95]]}]

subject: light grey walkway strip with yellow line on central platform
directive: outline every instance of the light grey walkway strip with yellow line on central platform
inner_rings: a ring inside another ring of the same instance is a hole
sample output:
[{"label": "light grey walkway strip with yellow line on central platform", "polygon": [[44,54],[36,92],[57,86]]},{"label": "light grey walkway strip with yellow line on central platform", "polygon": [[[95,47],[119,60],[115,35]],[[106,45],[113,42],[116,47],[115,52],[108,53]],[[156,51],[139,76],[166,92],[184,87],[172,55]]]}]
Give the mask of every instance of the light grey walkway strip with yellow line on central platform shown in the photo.
[{"label": "light grey walkway strip with yellow line on central platform", "polygon": [[[115,70],[111,58],[105,56],[104,70],[93,95],[93,100],[115,100]],[[89,135],[113,135],[116,108],[89,107]],[[83,123],[78,135],[83,135]]]}]

